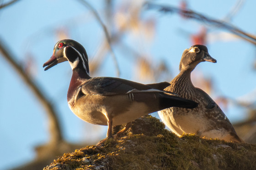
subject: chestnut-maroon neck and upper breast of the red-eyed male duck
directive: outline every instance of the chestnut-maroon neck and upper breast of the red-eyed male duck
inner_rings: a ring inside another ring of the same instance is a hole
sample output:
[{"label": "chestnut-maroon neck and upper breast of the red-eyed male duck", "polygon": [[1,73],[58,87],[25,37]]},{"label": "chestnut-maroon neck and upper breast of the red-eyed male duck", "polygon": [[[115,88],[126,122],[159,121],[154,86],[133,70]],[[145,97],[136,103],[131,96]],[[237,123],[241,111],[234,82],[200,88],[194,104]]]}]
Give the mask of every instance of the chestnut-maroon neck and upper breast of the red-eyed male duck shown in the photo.
[{"label": "chestnut-maroon neck and upper breast of the red-eyed male duck", "polygon": [[78,90],[78,87],[82,85],[86,79],[91,77],[86,73],[84,69],[73,69],[72,77],[69,83],[69,90],[67,99],[68,101],[72,100],[74,93]]}]

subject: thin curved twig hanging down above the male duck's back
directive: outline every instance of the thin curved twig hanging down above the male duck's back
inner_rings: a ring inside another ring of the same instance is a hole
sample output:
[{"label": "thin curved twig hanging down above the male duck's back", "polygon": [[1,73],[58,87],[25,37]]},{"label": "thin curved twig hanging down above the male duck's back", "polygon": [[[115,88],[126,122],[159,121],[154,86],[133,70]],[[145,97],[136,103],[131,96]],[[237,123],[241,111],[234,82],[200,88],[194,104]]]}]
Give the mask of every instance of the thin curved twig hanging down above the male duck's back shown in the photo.
[{"label": "thin curved twig hanging down above the male duck's back", "polygon": [[96,20],[99,22],[99,24],[102,26],[103,28],[103,31],[105,33],[105,36],[106,36],[106,39],[107,39],[107,42],[108,42],[108,45],[109,45],[109,49],[110,49],[110,52],[111,52],[111,56],[113,57],[113,60],[114,60],[114,63],[115,63],[115,66],[117,68],[117,77],[120,76],[120,69],[118,67],[118,63],[117,63],[117,57],[116,55],[114,54],[113,52],[113,49],[112,49],[112,46],[111,46],[111,38],[109,36],[109,33],[107,31],[107,27],[104,25],[103,21],[101,20],[101,17],[100,15],[97,13],[97,11],[86,1],[86,0],[78,0],[80,1],[81,4],[85,5],[86,8],[90,9],[92,14],[96,17]]}]

